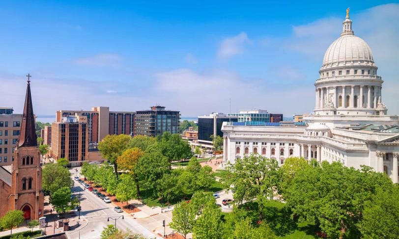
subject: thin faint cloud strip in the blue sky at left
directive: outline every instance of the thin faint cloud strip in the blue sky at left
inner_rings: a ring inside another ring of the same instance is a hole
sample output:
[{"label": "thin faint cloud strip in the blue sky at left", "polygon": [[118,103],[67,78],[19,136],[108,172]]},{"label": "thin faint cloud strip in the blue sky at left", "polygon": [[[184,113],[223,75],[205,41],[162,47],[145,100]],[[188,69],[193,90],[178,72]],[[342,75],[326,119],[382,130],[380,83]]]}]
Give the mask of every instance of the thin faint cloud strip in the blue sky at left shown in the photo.
[{"label": "thin faint cloud strip in the blue sky at left", "polygon": [[117,67],[120,66],[122,57],[117,54],[97,54],[73,60],[75,64],[96,67]]}]

